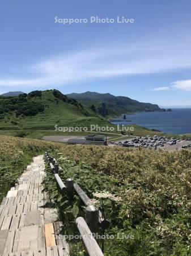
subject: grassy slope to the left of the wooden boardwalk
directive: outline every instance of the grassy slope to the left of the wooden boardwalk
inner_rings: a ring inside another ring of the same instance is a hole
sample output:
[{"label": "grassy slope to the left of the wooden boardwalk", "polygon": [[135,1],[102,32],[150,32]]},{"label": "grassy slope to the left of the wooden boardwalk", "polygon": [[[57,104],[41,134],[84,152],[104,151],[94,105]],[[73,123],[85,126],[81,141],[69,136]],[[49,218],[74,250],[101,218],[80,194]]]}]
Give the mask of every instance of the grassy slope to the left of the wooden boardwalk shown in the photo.
[{"label": "grassy slope to the left of the wooden boardwalk", "polygon": [[15,184],[27,164],[31,163],[32,157],[44,154],[47,148],[56,148],[56,144],[35,139],[0,136],[0,201]]}]

